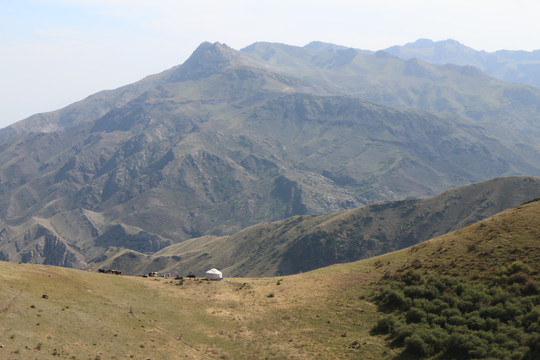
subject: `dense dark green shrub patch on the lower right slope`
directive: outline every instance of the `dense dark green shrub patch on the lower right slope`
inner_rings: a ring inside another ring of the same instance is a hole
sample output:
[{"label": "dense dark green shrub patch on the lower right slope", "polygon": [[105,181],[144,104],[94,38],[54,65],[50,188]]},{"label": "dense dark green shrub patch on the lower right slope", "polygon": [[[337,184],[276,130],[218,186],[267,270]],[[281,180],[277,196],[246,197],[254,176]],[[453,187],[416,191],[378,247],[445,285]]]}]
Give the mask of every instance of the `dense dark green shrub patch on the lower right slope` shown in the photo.
[{"label": "dense dark green shrub patch on the lower right slope", "polygon": [[386,276],[371,332],[403,355],[539,359],[540,284],[520,261],[490,278],[435,276],[416,269]]}]

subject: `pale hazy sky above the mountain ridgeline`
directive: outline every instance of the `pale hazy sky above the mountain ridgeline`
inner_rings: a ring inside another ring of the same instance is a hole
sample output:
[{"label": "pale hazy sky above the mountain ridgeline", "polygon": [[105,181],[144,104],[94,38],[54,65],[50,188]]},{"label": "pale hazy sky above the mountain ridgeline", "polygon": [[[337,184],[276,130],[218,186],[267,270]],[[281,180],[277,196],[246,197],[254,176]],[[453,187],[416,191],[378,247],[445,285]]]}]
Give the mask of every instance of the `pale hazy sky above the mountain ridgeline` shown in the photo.
[{"label": "pale hazy sky above the mountain ridgeline", "polygon": [[538,0],[0,0],[0,127],[183,63],[203,41],[540,49]]}]

